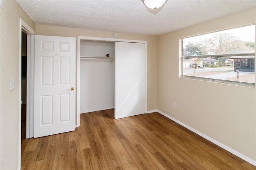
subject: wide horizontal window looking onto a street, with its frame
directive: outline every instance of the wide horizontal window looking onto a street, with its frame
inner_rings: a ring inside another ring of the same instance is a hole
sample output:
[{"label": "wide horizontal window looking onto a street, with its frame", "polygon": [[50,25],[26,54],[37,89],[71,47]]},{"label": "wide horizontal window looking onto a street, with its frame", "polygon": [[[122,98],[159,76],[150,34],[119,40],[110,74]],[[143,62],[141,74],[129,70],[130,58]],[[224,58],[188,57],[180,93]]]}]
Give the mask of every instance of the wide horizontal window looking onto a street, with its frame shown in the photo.
[{"label": "wide horizontal window looking onto a street, with its frame", "polygon": [[182,77],[255,85],[255,25],[184,38]]}]

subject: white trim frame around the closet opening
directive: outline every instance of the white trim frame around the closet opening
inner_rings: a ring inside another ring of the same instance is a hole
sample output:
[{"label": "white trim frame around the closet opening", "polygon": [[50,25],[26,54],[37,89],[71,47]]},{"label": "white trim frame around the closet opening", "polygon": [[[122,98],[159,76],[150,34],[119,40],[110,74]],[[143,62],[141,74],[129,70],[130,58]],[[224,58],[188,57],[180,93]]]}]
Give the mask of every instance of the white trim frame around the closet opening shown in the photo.
[{"label": "white trim frame around the closet opening", "polygon": [[148,41],[144,40],[127,40],[116,38],[100,38],[100,37],[88,37],[77,36],[77,91],[76,91],[76,115],[77,115],[77,127],[80,126],[80,42],[81,40],[88,41],[104,41],[104,42],[131,42],[131,43],[145,43],[145,113],[147,113],[147,91],[148,91]]}]

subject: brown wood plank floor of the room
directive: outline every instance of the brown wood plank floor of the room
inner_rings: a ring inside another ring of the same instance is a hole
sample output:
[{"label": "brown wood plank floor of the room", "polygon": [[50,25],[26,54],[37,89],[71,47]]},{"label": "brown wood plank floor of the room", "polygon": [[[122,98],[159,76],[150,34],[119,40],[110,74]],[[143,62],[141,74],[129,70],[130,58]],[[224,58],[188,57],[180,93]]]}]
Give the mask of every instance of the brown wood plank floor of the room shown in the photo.
[{"label": "brown wood plank floor of the room", "polygon": [[114,109],[81,114],[80,127],[73,132],[26,139],[22,128],[21,166],[23,170],[256,169],[159,113],[115,120]]}]

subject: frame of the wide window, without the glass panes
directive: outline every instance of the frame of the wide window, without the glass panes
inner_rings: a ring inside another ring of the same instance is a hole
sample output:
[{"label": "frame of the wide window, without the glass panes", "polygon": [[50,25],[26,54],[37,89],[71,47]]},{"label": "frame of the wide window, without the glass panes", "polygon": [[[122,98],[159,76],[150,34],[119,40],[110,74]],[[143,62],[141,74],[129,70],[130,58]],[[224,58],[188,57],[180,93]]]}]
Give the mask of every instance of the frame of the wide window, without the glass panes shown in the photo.
[{"label": "frame of the wide window, without the glass panes", "polygon": [[[256,27],[256,24],[250,24],[246,26],[252,26],[254,25]],[[246,27],[246,26],[240,26],[236,28],[241,28],[241,27]],[[224,30],[219,30],[216,32],[221,32],[225,30],[232,30],[235,28],[230,28],[230,29],[224,29]],[[214,32],[211,32],[214,33]],[[206,33],[206,34],[211,34],[211,33]],[[192,37],[197,37],[197,36],[202,36],[206,34],[200,34],[196,36],[190,36],[186,38],[192,38]],[[223,79],[214,79],[214,78],[206,78],[206,77],[197,77],[197,76],[191,76],[191,75],[183,75],[183,69],[184,69],[184,59],[192,58],[192,57],[197,57],[197,58],[204,58],[204,57],[234,57],[234,56],[251,56],[254,55],[255,57],[255,49],[254,53],[234,53],[234,54],[214,54],[214,55],[186,55],[183,56],[183,40],[186,38],[181,38],[181,78],[188,78],[188,79],[196,79],[196,80],[202,80],[202,81],[210,81],[210,82],[216,82],[216,83],[224,83],[224,84],[230,84],[230,85],[239,85],[239,86],[245,86],[245,87],[254,87],[255,88],[255,82],[254,83],[248,83],[248,82],[242,82],[242,81],[232,81],[232,80],[223,80]],[[256,65],[255,60],[254,60],[254,65]],[[255,72],[254,72],[255,73]]]}]

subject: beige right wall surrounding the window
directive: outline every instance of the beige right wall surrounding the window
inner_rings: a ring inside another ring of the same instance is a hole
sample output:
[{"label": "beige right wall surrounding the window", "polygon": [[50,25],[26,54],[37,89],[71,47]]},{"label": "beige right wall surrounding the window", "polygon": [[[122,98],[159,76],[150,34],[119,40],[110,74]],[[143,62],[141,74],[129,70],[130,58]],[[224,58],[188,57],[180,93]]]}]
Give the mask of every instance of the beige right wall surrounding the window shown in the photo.
[{"label": "beige right wall surrounding the window", "polygon": [[252,160],[256,160],[255,88],[180,78],[179,42],[180,38],[254,24],[255,14],[253,8],[158,37],[158,110]]}]

